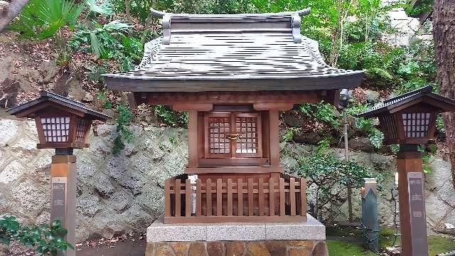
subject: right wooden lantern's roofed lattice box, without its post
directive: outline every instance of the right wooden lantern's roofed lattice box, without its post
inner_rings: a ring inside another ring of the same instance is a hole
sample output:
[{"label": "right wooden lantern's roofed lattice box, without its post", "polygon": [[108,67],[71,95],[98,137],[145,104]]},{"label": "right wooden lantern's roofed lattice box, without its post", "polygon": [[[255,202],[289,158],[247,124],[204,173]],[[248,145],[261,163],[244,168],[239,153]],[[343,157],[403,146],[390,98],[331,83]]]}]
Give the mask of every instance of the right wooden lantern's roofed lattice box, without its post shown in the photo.
[{"label": "right wooden lantern's roofed lattice box, without its post", "polygon": [[455,100],[434,94],[427,86],[385,100],[359,117],[378,117],[385,144],[431,144],[437,113],[454,110]]}]

